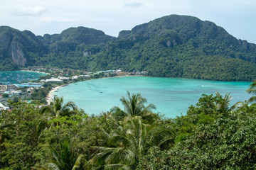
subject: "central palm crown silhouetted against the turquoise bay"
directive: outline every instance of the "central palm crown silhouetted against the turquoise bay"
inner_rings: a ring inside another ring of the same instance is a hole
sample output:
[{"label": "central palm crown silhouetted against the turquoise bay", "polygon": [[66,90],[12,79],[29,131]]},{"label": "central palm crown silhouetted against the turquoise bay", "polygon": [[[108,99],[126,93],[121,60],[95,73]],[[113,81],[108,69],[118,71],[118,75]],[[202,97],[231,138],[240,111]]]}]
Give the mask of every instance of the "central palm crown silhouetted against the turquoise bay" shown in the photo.
[{"label": "central palm crown silhouetted against the turquoise bay", "polygon": [[[157,119],[158,116],[151,112],[152,109],[156,109],[154,104],[149,104],[148,106],[144,106],[147,102],[146,98],[143,98],[141,94],[131,94],[127,91],[128,98],[122,96],[120,101],[124,106],[124,113],[128,118],[134,118],[135,116],[140,116],[144,120],[154,120]],[[115,106],[112,108],[112,112],[120,111],[121,109]]]}]

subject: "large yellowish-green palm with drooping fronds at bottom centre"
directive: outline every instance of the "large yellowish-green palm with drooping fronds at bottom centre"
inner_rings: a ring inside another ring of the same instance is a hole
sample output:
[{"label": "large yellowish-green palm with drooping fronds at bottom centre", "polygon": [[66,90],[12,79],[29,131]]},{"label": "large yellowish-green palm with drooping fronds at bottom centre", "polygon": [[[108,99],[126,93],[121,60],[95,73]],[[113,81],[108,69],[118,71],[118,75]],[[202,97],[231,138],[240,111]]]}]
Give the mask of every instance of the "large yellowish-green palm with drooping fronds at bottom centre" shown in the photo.
[{"label": "large yellowish-green palm with drooping fronds at bottom centre", "polygon": [[141,117],[123,121],[108,136],[110,147],[94,147],[97,152],[88,165],[104,169],[136,169],[139,159],[152,146],[160,146],[171,131],[159,122],[144,124]]}]

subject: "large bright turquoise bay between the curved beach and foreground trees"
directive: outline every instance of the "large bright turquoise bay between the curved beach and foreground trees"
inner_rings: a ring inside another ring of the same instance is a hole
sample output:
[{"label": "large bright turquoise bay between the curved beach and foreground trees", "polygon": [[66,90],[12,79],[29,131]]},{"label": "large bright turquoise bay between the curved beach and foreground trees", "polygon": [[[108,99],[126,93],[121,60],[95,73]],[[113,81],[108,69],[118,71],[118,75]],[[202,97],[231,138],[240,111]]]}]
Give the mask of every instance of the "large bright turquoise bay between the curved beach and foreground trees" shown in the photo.
[{"label": "large bright turquoise bay between the curved beach and foreground trees", "polygon": [[[74,101],[85,113],[99,114],[110,111],[113,106],[122,107],[119,99],[140,93],[148,103],[156,105],[156,112],[164,113],[167,118],[186,115],[188,106],[195,105],[201,94],[223,96],[230,92],[231,103],[243,101],[250,96],[245,90],[250,82],[223,82],[196,79],[156,78],[156,77],[117,77],[81,81],[61,87],[53,95],[63,96],[64,101]],[[101,93],[102,92],[102,93]]]}]

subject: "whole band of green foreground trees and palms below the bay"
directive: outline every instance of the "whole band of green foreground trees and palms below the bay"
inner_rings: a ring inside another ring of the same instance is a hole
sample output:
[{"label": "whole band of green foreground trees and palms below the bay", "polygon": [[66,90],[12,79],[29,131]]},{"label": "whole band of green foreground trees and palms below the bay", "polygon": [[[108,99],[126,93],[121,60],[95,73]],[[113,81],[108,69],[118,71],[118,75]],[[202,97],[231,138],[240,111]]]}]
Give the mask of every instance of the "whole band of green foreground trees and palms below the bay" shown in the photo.
[{"label": "whole band of green foreground trees and palms below the bay", "polygon": [[[0,169],[256,169],[252,97],[203,94],[186,115],[164,118],[141,94],[87,115],[55,96],[48,106],[9,101],[0,114]],[[170,108],[171,109],[171,108]]]}]

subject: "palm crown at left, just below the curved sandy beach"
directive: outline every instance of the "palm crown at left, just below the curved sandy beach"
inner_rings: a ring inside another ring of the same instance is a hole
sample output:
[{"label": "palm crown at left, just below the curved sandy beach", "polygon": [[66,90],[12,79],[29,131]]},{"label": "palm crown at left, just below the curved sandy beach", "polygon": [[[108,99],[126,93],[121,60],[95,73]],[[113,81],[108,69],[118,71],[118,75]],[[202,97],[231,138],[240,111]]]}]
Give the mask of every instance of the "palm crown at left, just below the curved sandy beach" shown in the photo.
[{"label": "palm crown at left, just below the curved sandy beach", "polygon": [[44,106],[41,109],[42,114],[48,113],[50,116],[55,118],[58,116],[75,115],[77,111],[78,108],[72,101],[63,104],[63,96],[61,96],[60,98],[58,96],[53,96],[53,99],[50,101],[50,105]]}]

